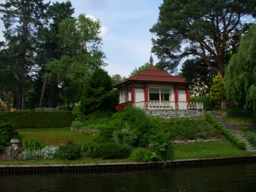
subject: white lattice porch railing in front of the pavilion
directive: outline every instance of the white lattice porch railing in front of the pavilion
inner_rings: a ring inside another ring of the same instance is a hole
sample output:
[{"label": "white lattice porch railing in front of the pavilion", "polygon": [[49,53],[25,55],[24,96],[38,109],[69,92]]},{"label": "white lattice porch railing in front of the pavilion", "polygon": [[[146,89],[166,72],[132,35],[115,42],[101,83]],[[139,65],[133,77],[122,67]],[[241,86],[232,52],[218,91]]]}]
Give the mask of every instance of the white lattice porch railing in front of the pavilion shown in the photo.
[{"label": "white lattice porch railing in front of the pavilion", "polygon": [[141,109],[203,109],[204,108],[204,102],[202,101],[141,101],[141,102],[135,102],[133,106]]}]

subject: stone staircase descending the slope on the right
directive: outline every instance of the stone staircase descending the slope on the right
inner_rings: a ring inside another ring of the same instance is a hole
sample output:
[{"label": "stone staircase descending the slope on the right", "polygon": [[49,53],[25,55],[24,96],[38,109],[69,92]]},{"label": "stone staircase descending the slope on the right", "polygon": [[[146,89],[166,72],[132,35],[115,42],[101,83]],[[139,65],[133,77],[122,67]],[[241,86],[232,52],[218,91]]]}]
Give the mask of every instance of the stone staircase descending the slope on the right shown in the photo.
[{"label": "stone staircase descending the slope on the right", "polygon": [[226,127],[227,129],[230,130],[230,132],[232,134],[234,134],[234,136],[236,136],[239,140],[244,141],[247,145],[246,147],[246,151],[250,151],[250,152],[256,152],[256,147],[253,147],[253,145],[251,145],[249,143],[249,141],[246,139],[246,137],[244,136],[243,132],[240,131],[240,127],[241,125],[237,125],[237,124],[230,124],[228,123],[227,120],[225,120],[225,118],[221,118],[220,114],[218,112],[211,112],[210,113],[214,118],[216,118],[216,120],[218,120],[218,122],[222,125],[224,125],[224,127]]}]

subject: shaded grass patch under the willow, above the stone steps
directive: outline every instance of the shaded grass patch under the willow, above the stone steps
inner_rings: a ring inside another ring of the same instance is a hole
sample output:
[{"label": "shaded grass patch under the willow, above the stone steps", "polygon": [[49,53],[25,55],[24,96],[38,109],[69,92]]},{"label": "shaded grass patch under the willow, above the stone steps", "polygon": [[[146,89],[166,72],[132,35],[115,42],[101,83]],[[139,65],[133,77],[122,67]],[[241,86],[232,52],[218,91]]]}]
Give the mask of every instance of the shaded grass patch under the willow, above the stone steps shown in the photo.
[{"label": "shaded grass patch under the willow, above the stone steps", "polygon": [[222,117],[227,119],[230,124],[256,124],[253,112],[244,109],[228,109]]}]

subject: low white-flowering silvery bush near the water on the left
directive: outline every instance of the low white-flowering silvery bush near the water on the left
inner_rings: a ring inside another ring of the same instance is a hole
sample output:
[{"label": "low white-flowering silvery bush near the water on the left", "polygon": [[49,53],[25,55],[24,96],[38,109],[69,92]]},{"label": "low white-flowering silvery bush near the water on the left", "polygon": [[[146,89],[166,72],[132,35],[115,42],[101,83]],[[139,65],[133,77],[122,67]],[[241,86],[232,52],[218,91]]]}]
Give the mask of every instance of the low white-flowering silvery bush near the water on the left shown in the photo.
[{"label": "low white-flowering silvery bush near the water on the left", "polygon": [[27,159],[52,159],[56,157],[58,147],[46,146],[41,150],[28,150],[25,149],[21,154],[20,158],[23,160]]}]

